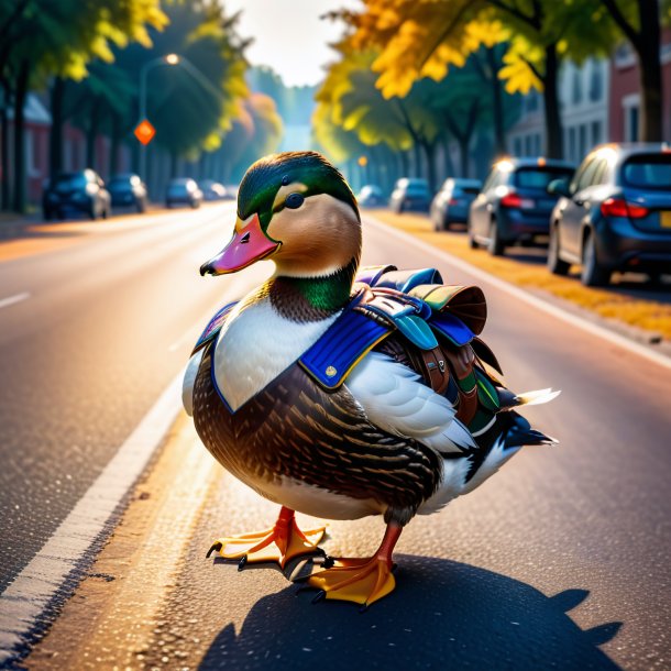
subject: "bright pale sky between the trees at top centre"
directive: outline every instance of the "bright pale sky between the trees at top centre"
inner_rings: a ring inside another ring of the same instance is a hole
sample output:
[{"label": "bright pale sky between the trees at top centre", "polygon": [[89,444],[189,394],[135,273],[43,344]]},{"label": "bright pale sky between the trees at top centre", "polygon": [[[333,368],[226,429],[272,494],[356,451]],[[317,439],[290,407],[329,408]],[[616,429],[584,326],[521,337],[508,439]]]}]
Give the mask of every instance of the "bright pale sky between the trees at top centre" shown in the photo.
[{"label": "bright pale sky between the trees at top centre", "polygon": [[242,10],[240,35],[254,37],[246,50],[250,63],[270,65],[288,86],[317,84],[323,66],[337,59],[328,44],[338,41],[343,25],[319,16],[359,6],[359,0],[224,0],[227,13]]}]

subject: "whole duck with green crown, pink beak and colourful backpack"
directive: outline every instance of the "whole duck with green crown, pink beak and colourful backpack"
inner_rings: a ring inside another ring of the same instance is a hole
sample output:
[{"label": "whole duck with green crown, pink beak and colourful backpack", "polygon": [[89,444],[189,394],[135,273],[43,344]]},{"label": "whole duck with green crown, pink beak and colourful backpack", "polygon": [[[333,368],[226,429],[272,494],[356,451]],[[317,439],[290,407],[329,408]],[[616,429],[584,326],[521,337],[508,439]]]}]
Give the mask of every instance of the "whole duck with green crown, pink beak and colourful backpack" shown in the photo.
[{"label": "whole duck with green crown, pink beak and colourful backpack", "polygon": [[[416,515],[472,492],[522,446],[557,442],[516,408],[558,392],[505,387],[480,339],[480,288],[446,285],[432,268],[360,267],[356,199],[321,154],[256,161],[237,205],[232,239],[201,275],[261,260],[275,271],[210,320],[183,399],[212,457],[279,512],[210,552],[240,570],[315,558],[305,585],[315,601],[367,608],[394,590],[394,548]],[[371,557],[331,558],[319,547],[326,527],[300,529],[296,512],[382,516],[384,537]]]}]

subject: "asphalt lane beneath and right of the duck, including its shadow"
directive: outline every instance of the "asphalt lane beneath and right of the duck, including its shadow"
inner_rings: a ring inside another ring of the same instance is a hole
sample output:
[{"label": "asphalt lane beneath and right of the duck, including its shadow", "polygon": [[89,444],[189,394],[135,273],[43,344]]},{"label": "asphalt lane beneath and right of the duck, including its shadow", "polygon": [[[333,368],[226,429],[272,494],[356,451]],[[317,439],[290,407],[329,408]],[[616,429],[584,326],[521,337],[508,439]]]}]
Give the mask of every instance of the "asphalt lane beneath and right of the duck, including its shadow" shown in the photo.
[{"label": "asphalt lane beneath and right of the duck, including its shadow", "polygon": [[[440,257],[366,227],[364,262]],[[226,279],[223,279],[226,282]],[[397,546],[397,591],[360,615],[312,605],[278,571],[206,560],[213,538],[267,528],[276,506],[222,474],[139,659],[199,669],[669,668],[671,375],[481,284],[485,339],[557,448],[527,448],[474,493],[418,517]],[[332,522],[334,556],[374,551],[383,524]]]}]

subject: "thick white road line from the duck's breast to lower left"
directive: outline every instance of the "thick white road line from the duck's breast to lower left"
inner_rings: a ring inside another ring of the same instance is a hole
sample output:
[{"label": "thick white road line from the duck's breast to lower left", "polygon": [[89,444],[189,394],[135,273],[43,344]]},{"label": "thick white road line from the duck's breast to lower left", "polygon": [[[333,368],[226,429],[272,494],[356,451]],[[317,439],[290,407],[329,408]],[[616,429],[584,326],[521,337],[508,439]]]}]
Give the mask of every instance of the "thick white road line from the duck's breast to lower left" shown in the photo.
[{"label": "thick white road line from the duck's breast to lower left", "polygon": [[184,371],[170,382],[40,552],[0,595],[0,666],[18,657],[81,559],[109,529],[129,485],[142,474],[182,407]]}]

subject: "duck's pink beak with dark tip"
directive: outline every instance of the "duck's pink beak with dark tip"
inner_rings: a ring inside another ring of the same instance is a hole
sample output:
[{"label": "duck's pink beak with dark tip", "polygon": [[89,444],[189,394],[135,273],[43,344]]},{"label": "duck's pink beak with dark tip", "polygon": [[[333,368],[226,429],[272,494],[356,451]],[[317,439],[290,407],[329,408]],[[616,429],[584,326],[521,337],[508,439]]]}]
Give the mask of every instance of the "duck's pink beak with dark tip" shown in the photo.
[{"label": "duck's pink beak with dark tip", "polygon": [[213,258],[200,266],[201,275],[235,273],[270,256],[282,243],[271,240],[261,229],[258,215],[235,222],[233,239]]}]

